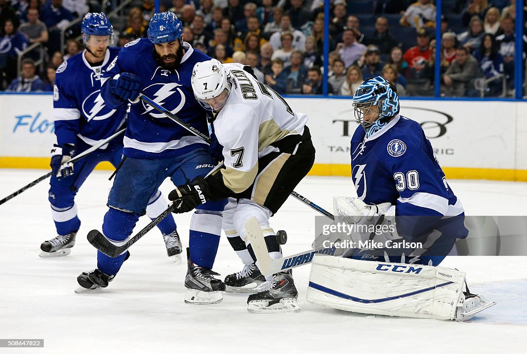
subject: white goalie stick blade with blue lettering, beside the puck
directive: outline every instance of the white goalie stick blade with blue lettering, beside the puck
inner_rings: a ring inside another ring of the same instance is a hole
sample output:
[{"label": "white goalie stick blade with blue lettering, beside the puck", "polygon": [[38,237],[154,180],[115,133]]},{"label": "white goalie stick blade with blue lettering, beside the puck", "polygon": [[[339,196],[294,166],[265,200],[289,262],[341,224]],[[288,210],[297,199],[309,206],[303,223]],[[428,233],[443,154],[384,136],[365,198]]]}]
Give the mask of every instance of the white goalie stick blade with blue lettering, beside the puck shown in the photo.
[{"label": "white goalie stick blade with blue lettering, beside the puck", "polygon": [[247,231],[247,237],[251,244],[252,251],[255,253],[256,259],[258,260],[258,269],[260,269],[264,276],[273,275],[281,271],[309,264],[313,261],[313,256],[317,253],[332,256],[336,251],[335,247],[319,247],[292,256],[272,259],[271,256],[269,256],[264,234],[262,233],[258,220],[255,217],[251,217],[245,221],[245,229]]}]

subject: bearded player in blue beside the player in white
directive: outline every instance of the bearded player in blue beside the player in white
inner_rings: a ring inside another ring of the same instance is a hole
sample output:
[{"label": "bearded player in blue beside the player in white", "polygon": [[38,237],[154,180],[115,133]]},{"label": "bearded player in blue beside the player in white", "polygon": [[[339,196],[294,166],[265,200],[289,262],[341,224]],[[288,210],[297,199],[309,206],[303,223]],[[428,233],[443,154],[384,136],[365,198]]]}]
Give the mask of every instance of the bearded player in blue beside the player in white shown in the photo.
[{"label": "bearded player in blue beside the player in white", "polygon": [[[192,68],[210,57],[183,42],[183,25],[171,12],[154,14],[148,38],[124,46],[103,75],[102,97],[111,108],[134,101],[139,93],[151,97],[200,132],[207,132],[207,115],[194,98]],[[175,185],[204,177],[214,167],[208,144],[143,103],[132,104],[124,137],[126,157],[110,191],[103,234],[119,244],[128,238],[148,197],[164,179]],[[200,304],[222,300],[225,284],[211,268],[221,233],[221,213],[226,200],[197,208],[190,223],[190,261],[185,285],[186,302]],[[108,286],[128,255],[110,258],[97,253],[97,269],[77,279],[81,287]]]}]

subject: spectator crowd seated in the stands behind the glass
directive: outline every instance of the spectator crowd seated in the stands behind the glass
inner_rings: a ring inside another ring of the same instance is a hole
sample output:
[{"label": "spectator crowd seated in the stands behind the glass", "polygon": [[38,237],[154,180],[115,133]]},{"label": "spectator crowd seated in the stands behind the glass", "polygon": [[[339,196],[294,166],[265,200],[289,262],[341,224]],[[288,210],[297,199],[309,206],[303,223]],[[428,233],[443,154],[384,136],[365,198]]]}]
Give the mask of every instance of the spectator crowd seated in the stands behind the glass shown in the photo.
[{"label": "spectator crowd seated in the stands behind the glass", "polygon": [[[326,0],[328,1],[328,0]],[[119,1],[112,2],[114,5]],[[504,96],[514,89],[515,14],[520,0],[443,0],[441,38],[435,37],[431,0],[331,0],[328,73],[324,73],[323,0],[161,1],[184,25],[184,41],[222,63],[250,65],[280,94],[352,96],[364,80],[382,75],[400,96],[431,95],[436,40],[441,41],[443,96]],[[54,70],[80,53],[79,28],[70,26],[89,11],[89,0],[0,0],[1,89],[45,91]],[[114,19],[115,45],[147,36],[153,1],[132,1]],[[524,16],[527,18],[527,16]],[[66,43],[62,44],[61,32]],[[525,62],[527,37],[522,33]],[[42,48],[18,55],[28,46]],[[64,48],[64,52],[61,52]],[[43,58],[40,72],[35,60]]]}]

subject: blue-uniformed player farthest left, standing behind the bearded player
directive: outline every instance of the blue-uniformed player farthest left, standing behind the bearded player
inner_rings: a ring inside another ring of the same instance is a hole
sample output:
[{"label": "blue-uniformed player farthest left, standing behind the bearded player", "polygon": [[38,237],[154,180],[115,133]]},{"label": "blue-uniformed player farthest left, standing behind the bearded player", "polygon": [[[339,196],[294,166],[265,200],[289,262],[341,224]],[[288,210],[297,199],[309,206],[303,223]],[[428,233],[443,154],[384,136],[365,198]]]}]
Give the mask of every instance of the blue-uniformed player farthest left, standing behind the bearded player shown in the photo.
[{"label": "blue-uniformed player farthest left, standing behind the bearded player", "polygon": [[[52,150],[49,200],[58,236],[43,242],[42,257],[70,253],[81,226],[75,204],[77,191],[101,161],[118,166],[122,158],[123,141],[119,136],[76,163],[67,164],[76,154],[124,128],[126,121],[125,105],[111,108],[101,97],[102,68],[119,53],[119,48],[109,47],[113,27],[103,13],[89,13],[84,16],[81,28],[85,50],[62,63],[56,71],[53,112],[57,144]],[[61,166],[65,163],[66,166]],[[167,204],[156,191],[149,201],[148,216],[157,217]],[[158,227],[168,255],[177,257],[181,242],[173,218],[165,218]]]}]

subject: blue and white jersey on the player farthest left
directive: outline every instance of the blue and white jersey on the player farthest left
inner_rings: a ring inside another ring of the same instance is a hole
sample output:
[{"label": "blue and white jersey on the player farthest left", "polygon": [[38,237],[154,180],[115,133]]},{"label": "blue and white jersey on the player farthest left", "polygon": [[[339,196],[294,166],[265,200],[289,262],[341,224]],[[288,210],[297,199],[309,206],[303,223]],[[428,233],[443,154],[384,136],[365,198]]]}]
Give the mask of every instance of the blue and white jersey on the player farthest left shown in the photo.
[{"label": "blue and white jersey on the player farthest left", "polygon": [[126,107],[110,108],[101,97],[103,67],[112,62],[119,50],[108,48],[99,66],[91,66],[83,51],[57,68],[53,112],[58,144],[76,144],[81,139],[93,146],[124,124]]}]

